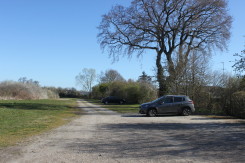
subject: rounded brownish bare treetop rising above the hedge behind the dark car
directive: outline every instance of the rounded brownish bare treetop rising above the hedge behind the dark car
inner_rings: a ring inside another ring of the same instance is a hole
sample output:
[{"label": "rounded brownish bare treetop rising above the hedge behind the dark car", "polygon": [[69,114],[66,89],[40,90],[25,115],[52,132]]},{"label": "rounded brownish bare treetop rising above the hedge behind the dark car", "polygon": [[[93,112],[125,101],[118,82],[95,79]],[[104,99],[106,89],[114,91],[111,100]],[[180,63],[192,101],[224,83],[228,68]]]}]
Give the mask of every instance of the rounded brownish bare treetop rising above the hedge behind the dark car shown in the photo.
[{"label": "rounded brownish bare treetop rising above the hedge behind the dark car", "polygon": [[105,73],[101,73],[100,82],[110,83],[113,81],[125,81],[122,75],[116,70],[107,70]]}]

